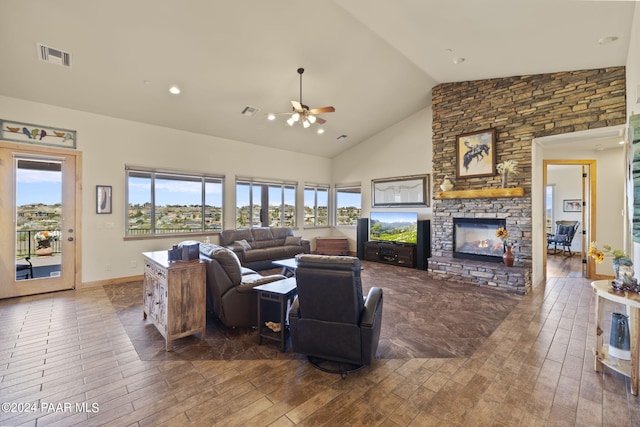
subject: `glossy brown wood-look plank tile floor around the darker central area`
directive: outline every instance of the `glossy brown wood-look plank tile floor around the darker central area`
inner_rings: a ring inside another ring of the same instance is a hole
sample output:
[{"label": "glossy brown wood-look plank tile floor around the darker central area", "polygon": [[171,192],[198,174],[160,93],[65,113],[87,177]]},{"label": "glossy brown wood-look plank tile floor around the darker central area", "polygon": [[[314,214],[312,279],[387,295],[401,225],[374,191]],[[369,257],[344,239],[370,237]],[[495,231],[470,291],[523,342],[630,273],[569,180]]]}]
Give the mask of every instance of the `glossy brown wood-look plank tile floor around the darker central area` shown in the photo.
[{"label": "glossy brown wood-look plank tile floor around the darker central area", "polygon": [[141,360],[103,288],[4,300],[0,425],[638,426],[628,379],[593,370],[593,301],[550,278],[468,356],[342,380],[304,359]]}]

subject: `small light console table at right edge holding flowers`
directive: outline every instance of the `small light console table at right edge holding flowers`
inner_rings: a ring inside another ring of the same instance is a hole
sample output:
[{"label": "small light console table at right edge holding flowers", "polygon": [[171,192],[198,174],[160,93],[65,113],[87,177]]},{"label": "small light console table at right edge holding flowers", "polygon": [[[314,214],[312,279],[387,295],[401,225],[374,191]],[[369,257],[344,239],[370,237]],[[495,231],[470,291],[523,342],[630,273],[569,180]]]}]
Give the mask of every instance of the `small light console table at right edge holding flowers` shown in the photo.
[{"label": "small light console table at right edge holding flowers", "polygon": [[[608,366],[616,372],[621,373],[631,379],[631,394],[638,395],[638,331],[640,329],[640,316],[638,316],[638,310],[640,310],[640,295],[638,294],[623,294],[615,292],[611,288],[610,280],[596,280],[591,282],[591,287],[596,294],[596,360],[595,370],[602,371],[602,365]],[[609,346],[602,343],[602,324],[604,315],[604,300],[609,300],[624,304],[627,307],[627,314],[629,315],[629,337],[631,338],[631,361],[610,359],[609,358]]]}]

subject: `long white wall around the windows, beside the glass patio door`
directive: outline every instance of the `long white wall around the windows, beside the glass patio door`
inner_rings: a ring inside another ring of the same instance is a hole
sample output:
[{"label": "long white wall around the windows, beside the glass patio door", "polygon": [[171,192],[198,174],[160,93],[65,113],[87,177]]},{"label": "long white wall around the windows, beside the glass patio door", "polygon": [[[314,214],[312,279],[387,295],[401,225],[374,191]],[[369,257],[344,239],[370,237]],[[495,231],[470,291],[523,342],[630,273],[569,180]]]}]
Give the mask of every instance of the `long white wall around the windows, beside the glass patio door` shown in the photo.
[{"label": "long white wall around the windows, beside the glass patio door", "polygon": [[[331,182],[331,160],[223,138],[115,119],[0,96],[0,117],[77,130],[83,155],[82,281],[142,274],[141,252],[163,250],[183,238],[124,240],[125,164],[225,176],[225,228],[235,227],[237,175],[299,182]],[[95,186],[113,186],[113,214],[95,213]],[[299,210],[298,223],[302,223]],[[296,234],[306,236],[306,230]],[[217,241],[217,240],[214,240]],[[132,267],[132,261],[137,262]],[[110,264],[111,270],[106,270]]]}]

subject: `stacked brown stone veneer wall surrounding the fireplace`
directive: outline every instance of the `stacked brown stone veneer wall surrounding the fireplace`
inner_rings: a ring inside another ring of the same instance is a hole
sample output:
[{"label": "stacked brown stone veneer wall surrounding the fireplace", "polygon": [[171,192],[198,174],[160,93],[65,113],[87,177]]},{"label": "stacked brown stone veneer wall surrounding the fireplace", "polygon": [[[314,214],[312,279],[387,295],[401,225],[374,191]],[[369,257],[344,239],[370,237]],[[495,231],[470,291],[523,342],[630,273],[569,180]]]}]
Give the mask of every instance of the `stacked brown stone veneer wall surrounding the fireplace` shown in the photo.
[{"label": "stacked brown stone veneer wall surrounding the fireplace", "polygon": [[[456,136],[496,129],[497,163],[517,160],[510,187],[524,197],[438,199],[429,271],[440,278],[526,294],[531,288],[531,142],[626,122],[625,69],[612,67],[445,83],[433,88],[433,185],[456,176]],[[500,177],[457,179],[455,190],[499,188]],[[515,267],[452,258],[453,217],[505,218]]]}]

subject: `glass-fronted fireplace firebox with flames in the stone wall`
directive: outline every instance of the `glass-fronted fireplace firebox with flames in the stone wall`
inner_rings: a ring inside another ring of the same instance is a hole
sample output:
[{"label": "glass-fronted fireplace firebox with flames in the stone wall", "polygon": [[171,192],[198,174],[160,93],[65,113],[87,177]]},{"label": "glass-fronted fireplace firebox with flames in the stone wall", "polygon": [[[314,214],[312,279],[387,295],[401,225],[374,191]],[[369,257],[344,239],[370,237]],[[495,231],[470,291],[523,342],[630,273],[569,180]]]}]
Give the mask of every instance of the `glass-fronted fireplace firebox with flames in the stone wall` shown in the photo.
[{"label": "glass-fronted fireplace firebox with flames in the stone wall", "polygon": [[496,230],[506,220],[496,218],[453,218],[453,257],[502,262],[504,248]]}]

